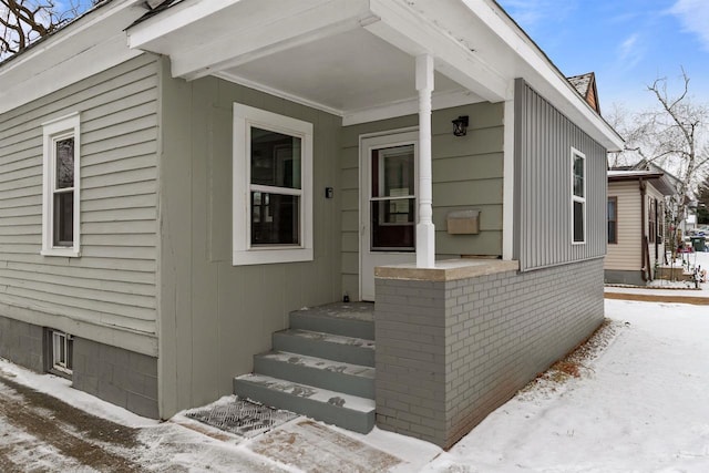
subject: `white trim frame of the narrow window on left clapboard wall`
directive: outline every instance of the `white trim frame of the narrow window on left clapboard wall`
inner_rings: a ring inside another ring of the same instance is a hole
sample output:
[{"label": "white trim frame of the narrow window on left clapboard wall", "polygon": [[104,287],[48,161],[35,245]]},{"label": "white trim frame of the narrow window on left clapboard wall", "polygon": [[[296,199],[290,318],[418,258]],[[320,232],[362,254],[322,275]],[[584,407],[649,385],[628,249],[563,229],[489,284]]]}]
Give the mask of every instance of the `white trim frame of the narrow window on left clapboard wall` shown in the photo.
[{"label": "white trim frame of the narrow window on left clapboard wall", "polygon": [[[42,123],[43,134],[43,199],[42,199],[42,250],[43,256],[81,256],[81,141],[79,113],[72,113]],[[54,198],[56,173],[55,146],[58,140],[74,138],[74,241],[72,246],[54,246]]]}]

